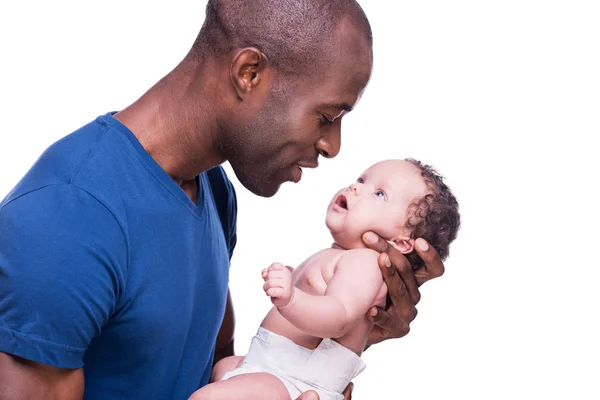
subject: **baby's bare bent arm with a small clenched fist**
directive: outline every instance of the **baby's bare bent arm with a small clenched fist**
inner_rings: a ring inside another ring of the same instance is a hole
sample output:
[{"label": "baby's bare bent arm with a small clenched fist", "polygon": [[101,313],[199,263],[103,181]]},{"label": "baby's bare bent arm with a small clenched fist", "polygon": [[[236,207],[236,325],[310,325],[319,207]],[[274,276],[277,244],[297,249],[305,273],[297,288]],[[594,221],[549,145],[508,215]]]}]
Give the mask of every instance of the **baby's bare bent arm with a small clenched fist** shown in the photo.
[{"label": "baby's bare bent arm with a small clenched fist", "polygon": [[346,251],[323,296],[293,287],[291,272],[281,264],[263,271],[264,289],[281,315],[298,329],[316,337],[339,338],[373,306],[383,282],[377,257],[369,249]]}]

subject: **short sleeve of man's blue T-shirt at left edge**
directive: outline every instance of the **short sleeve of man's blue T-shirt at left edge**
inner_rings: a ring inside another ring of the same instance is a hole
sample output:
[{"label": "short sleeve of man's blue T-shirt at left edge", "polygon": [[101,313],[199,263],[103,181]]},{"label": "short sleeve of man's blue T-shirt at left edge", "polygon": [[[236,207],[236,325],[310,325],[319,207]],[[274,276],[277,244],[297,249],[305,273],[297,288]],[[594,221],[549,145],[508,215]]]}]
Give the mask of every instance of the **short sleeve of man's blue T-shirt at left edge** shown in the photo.
[{"label": "short sleeve of man's blue T-shirt at left edge", "polygon": [[80,368],[124,286],[127,245],[88,192],[51,185],[0,208],[0,351]]}]

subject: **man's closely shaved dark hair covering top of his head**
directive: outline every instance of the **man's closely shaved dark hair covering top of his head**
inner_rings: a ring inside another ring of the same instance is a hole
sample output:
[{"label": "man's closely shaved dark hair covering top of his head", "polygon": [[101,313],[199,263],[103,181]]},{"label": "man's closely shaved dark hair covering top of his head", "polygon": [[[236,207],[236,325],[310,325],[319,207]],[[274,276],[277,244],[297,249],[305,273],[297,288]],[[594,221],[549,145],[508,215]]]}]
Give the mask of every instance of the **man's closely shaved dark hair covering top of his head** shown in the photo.
[{"label": "man's closely shaved dark hair covering top of his head", "polygon": [[369,21],[354,0],[209,0],[193,52],[214,57],[256,47],[279,73],[310,74],[330,62],[327,39],[343,19],[371,45]]}]

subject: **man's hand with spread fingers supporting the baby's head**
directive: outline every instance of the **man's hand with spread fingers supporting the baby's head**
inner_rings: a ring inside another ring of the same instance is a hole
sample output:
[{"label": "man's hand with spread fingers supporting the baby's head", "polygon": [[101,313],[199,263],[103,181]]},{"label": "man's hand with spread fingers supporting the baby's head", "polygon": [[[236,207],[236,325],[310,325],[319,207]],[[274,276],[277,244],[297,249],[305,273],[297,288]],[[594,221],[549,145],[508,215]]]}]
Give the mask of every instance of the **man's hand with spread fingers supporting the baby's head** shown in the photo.
[{"label": "man's hand with spread fingers supporting the baby's head", "polygon": [[400,338],[410,330],[410,323],[417,316],[415,305],[421,299],[419,286],[444,274],[444,263],[437,251],[423,239],[415,241],[415,250],[425,265],[413,271],[410,262],[400,251],[373,232],[363,235],[365,245],[379,253],[378,263],[388,287],[391,306],[388,310],[373,307],[369,315],[375,326],[368,345],[391,338]]}]

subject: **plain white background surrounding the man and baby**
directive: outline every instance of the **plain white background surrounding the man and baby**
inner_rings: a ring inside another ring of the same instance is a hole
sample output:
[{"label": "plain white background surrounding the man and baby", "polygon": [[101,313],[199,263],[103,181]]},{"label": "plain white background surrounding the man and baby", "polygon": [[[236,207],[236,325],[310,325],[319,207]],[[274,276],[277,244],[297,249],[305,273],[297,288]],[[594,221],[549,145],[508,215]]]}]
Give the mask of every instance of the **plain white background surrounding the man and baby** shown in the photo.
[{"label": "plain white background surrounding the man and baby", "polygon": [[[447,273],[422,288],[411,333],[365,354],[355,398],[600,398],[598,3],[361,4],[375,67],[344,119],[340,156],[271,199],[230,173],[236,351],[270,306],[260,270],[328,246],[330,197],[371,163],[416,157],[447,177],[463,227]],[[170,71],[204,6],[3,2],[0,197],[48,145]]]}]

